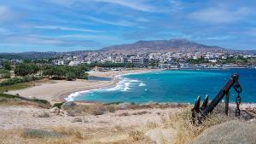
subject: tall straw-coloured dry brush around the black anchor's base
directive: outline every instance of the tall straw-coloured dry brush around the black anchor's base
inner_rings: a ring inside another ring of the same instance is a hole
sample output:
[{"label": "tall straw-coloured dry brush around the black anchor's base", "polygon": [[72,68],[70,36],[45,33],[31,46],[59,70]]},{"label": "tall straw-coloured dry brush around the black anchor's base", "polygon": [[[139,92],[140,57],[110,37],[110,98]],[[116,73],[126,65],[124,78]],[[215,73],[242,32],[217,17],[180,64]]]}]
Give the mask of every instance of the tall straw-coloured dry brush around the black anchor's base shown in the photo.
[{"label": "tall straw-coloured dry brush around the black anchor's base", "polygon": [[162,118],[162,122],[166,128],[177,130],[177,136],[174,144],[184,144],[191,142],[197,135],[200,135],[207,128],[222,124],[226,121],[235,119],[234,116],[226,116],[224,112],[220,111],[221,108],[217,107],[214,111],[203,119],[202,124],[192,124],[191,109],[184,109],[182,112],[169,114],[168,118]]}]

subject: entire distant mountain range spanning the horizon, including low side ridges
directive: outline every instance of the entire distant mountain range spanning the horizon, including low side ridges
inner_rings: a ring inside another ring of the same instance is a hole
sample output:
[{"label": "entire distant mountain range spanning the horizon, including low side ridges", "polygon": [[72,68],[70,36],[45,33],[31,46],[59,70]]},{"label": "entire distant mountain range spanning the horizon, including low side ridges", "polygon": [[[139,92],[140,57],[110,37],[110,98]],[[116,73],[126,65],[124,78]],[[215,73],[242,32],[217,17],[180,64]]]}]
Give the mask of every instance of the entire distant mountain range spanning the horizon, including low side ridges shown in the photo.
[{"label": "entire distant mountain range spanning the horizon, including low side ridges", "polygon": [[246,54],[255,54],[256,50],[234,50],[224,49],[218,46],[208,46],[201,43],[195,43],[186,39],[171,39],[171,40],[151,40],[151,41],[137,41],[135,43],[126,43],[113,45],[98,50],[79,50],[70,52],[24,52],[24,53],[0,53],[0,58],[15,57],[19,59],[27,58],[49,58],[56,55],[79,55],[90,52],[100,53],[122,53],[124,55],[137,54],[137,53],[151,53],[151,52],[240,52]]}]

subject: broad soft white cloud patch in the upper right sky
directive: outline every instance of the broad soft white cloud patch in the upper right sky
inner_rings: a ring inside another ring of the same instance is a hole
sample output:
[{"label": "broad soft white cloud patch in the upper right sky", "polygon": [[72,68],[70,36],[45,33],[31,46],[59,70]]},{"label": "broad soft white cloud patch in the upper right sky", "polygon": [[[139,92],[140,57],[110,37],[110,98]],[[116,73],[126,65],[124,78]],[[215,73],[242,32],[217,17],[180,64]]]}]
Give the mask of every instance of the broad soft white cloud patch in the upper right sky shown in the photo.
[{"label": "broad soft white cloud patch in the upper right sky", "polygon": [[194,20],[200,20],[212,24],[222,24],[236,22],[247,17],[251,13],[251,9],[239,8],[239,9],[224,9],[224,8],[208,8],[195,11],[189,14],[189,17]]}]

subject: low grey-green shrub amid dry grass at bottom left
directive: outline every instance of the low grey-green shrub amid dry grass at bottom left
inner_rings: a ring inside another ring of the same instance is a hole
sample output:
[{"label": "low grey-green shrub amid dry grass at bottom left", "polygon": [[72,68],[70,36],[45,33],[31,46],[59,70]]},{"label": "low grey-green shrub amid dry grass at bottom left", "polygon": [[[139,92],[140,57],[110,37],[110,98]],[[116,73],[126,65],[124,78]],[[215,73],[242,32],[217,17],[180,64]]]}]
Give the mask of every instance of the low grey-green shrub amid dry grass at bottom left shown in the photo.
[{"label": "low grey-green shrub amid dry grass at bottom left", "polygon": [[21,136],[24,138],[49,138],[49,137],[61,137],[60,133],[48,130],[37,129],[25,129],[22,130]]}]

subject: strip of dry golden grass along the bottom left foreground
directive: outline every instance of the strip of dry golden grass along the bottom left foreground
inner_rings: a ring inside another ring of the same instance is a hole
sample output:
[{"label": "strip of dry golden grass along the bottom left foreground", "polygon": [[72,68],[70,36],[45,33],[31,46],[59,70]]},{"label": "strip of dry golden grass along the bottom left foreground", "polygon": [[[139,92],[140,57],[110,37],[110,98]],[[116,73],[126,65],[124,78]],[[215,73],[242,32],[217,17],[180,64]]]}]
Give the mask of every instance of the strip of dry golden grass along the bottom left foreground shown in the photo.
[{"label": "strip of dry golden grass along the bottom left foreground", "polygon": [[0,131],[0,144],[139,144],[153,143],[142,131],[132,127],[116,126],[109,129],[81,129],[55,127],[49,129],[25,129]]}]

